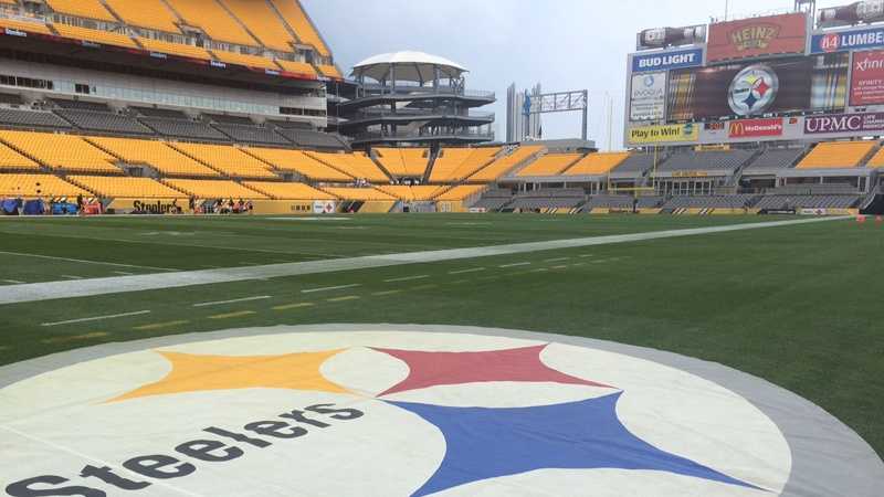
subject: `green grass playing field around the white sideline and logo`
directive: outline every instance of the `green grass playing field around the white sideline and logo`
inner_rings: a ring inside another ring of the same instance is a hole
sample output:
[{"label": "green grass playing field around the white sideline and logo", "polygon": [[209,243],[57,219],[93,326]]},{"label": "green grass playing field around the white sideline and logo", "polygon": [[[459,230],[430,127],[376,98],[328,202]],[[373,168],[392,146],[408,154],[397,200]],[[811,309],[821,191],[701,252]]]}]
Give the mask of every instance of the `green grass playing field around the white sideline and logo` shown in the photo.
[{"label": "green grass playing field around the white sideline and logo", "polygon": [[[0,285],[760,221],[766,219],[3,219]],[[832,221],[14,304],[0,306],[0,363],[102,342],[278,324],[549,331],[670,350],[759,376],[818,403],[884,454],[882,254],[884,228]],[[303,292],[329,286],[347,288]],[[266,298],[194,307],[249,297]],[[150,313],[41,326],[143,310]]]}]

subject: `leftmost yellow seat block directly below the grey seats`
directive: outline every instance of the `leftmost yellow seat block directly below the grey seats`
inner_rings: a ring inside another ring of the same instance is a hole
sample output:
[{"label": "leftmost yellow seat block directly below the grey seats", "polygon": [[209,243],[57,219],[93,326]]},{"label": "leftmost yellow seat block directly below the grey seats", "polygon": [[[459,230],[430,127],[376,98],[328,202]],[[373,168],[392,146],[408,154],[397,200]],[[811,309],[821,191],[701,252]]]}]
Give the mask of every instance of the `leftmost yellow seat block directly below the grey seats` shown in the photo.
[{"label": "leftmost yellow seat block directly below the grey seats", "polygon": [[76,136],[0,131],[0,140],[53,169],[123,173],[115,157]]}]

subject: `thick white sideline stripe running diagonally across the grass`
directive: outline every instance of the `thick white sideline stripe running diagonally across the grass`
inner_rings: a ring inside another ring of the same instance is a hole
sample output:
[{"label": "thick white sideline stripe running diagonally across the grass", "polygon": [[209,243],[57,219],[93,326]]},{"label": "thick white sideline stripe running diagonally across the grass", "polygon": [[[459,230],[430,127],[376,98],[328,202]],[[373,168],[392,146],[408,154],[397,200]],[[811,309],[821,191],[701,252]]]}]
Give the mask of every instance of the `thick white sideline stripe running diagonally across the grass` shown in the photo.
[{"label": "thick white sideline stripe running diagonally across the grass", "polygon": [[[723,226],[692,228],[685,230],[650,231],[631,234],[588,236],[581,239],[550,240],[545,242],[511,243],[505,245],[439,251],[407,252],[400,254],[373,255],[367,257],[346,257],[325,261],[305,261],[267,266],[232,267],[225,269],[181,271],[177,273],[143,274],[109,278],[80,279],[76,282],[48,282],[14,285],[0,292],[0,304],[51,300],[55,298],[90,297],[95,295],[144,292],[165,288],[182,288],[196,285],[245,282],[250,279],[290,277],[306,274],[340,273],[355,269],[391,267],[407,264],[427,264],[477,257],[526,254],[539,251],[579,248],[619,243],[644,242],[649,240],[674,239],[682,236],[711,235],[735,231],[759,230],[766,228],[799,226],[803,224],[852,220],[852,216],[809,218],[789,221],[767,221],[760,223],[726,224]],[[0,252],[2,254],[2,252]],[[449,274],[463,274],[484,271],[484,268],[454,271]],[[345,288],[352,286],[345,285]],[[330,287],[328,289],[338,289]],[[323,288],[302,290],[320,292]]]}]

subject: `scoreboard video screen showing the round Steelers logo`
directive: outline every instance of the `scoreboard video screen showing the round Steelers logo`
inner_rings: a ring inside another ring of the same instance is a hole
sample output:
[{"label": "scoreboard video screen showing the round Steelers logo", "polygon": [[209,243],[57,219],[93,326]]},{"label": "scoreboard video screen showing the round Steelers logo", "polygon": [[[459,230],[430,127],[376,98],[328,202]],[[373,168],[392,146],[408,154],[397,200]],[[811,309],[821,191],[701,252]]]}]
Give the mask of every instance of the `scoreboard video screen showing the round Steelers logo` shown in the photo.
[{"label": "scoreboard video screen showing the round Steelers logo", "polygon": [[670,73],[666,120],[712,120],[846,107],[849,53]]}]

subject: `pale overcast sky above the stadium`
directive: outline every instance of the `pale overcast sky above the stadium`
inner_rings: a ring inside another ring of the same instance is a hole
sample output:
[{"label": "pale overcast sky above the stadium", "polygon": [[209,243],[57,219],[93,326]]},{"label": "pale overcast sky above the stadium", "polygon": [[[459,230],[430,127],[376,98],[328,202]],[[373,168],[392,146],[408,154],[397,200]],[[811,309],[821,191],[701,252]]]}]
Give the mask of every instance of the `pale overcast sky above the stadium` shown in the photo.
[{"label": "pale overcast sky above the stadium", "polygon": [[[470,70],[467,87],[498,102],[506,134],[506,87],[590,92],[589,135],[608,148],[606,95],[613,99],[613,148],[622,146],[627,54],[648,28],[724,18],[725,0],[302,0],[341,71],[385,52],[417,50]],[[851,3],[821,0],[819,7]],[[793,0],[730,0],[729,15],[791,10]],[[579,113],[544,116],[544,138],[580,136]]]}]

